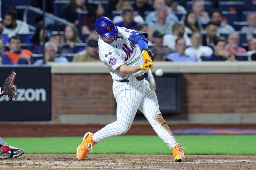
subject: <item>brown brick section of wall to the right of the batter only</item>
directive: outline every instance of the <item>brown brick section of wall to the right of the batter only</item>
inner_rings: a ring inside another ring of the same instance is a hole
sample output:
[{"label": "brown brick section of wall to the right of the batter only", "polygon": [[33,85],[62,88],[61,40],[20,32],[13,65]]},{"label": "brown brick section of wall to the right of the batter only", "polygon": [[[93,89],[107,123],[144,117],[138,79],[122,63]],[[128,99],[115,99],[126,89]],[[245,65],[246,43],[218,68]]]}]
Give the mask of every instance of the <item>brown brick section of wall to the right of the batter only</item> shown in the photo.
[{"label": "brown brick section of wall to the right of the batter only", "polygon": [[184,74],[187,113],[255,113],[256,74]]}]

